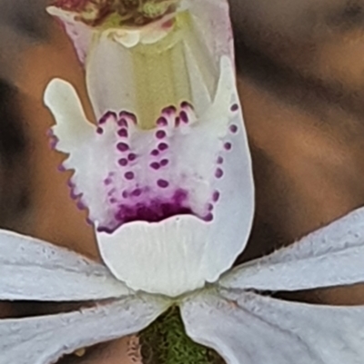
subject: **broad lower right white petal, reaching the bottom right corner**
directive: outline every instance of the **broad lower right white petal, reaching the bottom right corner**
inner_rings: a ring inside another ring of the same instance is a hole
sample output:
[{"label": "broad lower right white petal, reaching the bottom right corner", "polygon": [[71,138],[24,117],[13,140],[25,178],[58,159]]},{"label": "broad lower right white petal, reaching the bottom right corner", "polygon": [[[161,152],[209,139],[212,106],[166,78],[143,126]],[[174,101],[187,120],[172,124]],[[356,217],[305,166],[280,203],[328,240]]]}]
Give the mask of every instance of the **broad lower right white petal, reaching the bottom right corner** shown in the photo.
[{"label": "broad lower right white petal, reaching the bottom right corner", "polygon": [[364,307],[314,306],[252,292],[207,292],[182,305],[187,334],[227,364],[361,364]]}]

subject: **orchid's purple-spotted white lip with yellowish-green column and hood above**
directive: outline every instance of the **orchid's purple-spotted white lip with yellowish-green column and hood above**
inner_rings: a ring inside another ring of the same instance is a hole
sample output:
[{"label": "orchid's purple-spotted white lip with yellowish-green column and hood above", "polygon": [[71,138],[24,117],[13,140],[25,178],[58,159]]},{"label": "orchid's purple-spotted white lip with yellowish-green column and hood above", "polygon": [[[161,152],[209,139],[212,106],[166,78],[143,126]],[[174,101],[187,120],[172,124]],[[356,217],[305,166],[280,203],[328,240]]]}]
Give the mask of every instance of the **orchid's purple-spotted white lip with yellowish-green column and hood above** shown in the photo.
[{"label": "orchid's purple-spotted white lip with yellowish-green column and hood above", "polygon": [[[254,188],[220,0],[59,0],[97,125],[53,80],[56,149],[107,267],[170,297],[216,281],[248,240]],[[243,193],[242,193],[243,192]]]}]

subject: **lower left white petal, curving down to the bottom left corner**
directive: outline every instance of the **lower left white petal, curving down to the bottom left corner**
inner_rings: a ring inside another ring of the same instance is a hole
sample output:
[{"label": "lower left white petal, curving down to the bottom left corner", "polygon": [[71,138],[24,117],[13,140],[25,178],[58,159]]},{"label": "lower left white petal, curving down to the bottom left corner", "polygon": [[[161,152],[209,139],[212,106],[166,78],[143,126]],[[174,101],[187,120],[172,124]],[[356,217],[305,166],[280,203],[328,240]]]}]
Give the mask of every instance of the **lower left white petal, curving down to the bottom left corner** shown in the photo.
[{"label": "lower left white petal, curving down to the bottom left corner", "polygon": [[167,305],[140,296],[77,312],[0,320],[0,364],[54,363],[76,349],[143,330]]}]

